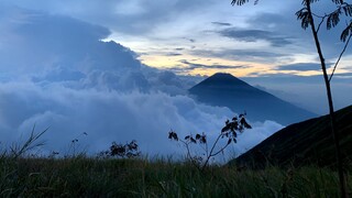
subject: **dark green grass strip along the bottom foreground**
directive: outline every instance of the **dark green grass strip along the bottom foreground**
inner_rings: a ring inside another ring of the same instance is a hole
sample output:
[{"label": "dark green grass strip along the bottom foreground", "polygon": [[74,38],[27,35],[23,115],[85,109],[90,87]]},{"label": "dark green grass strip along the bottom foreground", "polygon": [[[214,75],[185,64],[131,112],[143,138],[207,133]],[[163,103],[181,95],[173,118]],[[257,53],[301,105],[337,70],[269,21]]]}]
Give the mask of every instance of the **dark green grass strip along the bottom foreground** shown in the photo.
[{"label": "dark green grass strip along the bottom foreground", "polygon": [[[351,167],[348,188],[352,189]],[[146,160],[0,157],[0,197],[338,197],[337,173],[317,167],[239,170]]]}]

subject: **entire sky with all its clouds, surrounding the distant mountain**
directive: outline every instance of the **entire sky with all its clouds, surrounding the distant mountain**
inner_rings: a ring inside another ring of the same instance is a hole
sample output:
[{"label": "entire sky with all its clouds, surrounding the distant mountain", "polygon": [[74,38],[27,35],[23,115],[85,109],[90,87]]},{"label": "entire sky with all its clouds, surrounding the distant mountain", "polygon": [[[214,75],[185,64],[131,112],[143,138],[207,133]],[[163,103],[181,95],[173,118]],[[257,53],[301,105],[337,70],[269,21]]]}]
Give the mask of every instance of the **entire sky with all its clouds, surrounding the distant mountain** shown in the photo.
[{"label": "entire sky with all its clouds, surrounding the distant mountain", "polygon": [[[69,152],[78,136],[89,152],[135,139],[142,151],[172,154],[180,148],[166,140],[170,129],[215,132],[235,113],[186,95],[218,72],[324,114],[312,38],[295,16],[300,7],[294,0],[243,7],[228,0],[1,0],[0,138],[22,139],[36,124],[50,127],[45,151]],[[331,7],[315,7],[322,8]],[[343,47],[337,29],[321,30],[330,67]],[[351,61],[349,47],[332,80],[337,108],[352,101]],[[234,153],[283,128],[253,124]]]}]

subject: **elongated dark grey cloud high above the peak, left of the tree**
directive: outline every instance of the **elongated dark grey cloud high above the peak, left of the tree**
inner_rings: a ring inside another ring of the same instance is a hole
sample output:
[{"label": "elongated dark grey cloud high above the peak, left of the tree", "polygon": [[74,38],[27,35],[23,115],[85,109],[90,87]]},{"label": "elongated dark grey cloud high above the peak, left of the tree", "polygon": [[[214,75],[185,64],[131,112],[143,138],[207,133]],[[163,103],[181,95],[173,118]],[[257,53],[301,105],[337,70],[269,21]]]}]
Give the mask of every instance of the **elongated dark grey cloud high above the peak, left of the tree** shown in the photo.
[{"label": "elongated dark grey cloud high above the peak, left of the tree", "polygon": [[240,30],[235,28],[226,29],[219,32],[220,35],[231,37],[243,42],[256,42],[264,40],[271,43],[272,46],[282,47],[293,44],[289,37],[282,36],[274,32],[263,30]]}]

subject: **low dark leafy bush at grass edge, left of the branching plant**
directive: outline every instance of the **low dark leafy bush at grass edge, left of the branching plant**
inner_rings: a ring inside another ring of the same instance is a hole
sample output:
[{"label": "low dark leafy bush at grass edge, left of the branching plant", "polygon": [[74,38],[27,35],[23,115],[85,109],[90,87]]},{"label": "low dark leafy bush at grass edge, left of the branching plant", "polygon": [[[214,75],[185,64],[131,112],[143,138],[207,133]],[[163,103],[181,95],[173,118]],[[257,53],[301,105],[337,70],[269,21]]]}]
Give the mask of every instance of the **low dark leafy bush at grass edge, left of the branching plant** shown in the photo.
[{"label": "low dark leafy bush at grass edge, left of the branching plant", "polygon": [[112,142],[111,146],[108,151],[103,151],[99,153],[99,157],[110,158],[133,158],[141,155],[139,151],[139,144],[135,140],[132,140],[130,143],[121,144],[117,142]]}]

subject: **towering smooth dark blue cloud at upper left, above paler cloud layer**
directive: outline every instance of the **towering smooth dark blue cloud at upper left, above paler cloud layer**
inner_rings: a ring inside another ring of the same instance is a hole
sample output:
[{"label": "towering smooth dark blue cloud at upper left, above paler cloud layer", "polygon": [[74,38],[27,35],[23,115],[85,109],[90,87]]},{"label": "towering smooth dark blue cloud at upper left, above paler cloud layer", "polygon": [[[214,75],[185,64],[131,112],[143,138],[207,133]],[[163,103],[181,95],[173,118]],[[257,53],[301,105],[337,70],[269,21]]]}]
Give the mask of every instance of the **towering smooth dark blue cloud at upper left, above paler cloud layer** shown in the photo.
[{"label": "towering smooth dark blue cloud at upper left, above paler cloud layer", "polygon": [[[3,8],[0,7],[0,12]],[[141,63],[131,50],[116,43],[102,42],[110,31],[63,15],[52,15],[8,7],[1,24],[0,72],[16,74],[43,73],[41,67],[64,70],[135,68]],[[21,20],[21,22],[19,22]],[[117,67],[119,64],[121,67]],[[67,69],[65,69],[67,68]]]}]

